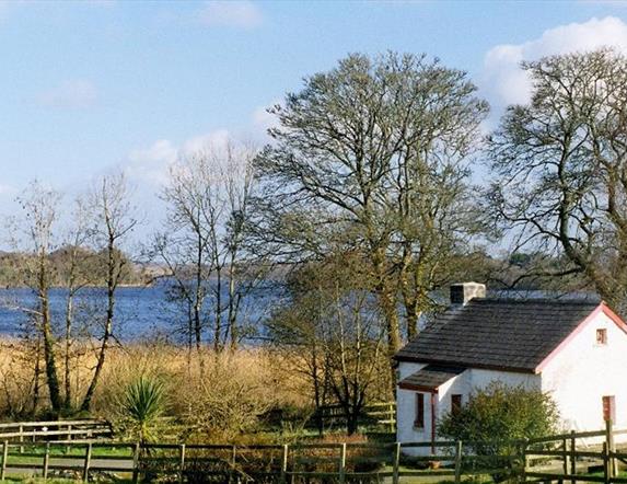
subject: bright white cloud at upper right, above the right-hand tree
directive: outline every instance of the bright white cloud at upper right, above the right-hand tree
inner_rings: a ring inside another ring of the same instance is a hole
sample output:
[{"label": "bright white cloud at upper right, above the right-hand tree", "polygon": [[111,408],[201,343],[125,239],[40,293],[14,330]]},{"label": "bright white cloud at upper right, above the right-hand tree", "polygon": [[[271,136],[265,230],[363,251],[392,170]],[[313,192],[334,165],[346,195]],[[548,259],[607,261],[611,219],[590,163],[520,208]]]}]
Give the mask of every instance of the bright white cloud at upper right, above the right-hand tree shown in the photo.
[{"label": "bright white cloud at upper right, above the right-hand tree", "polygon": [[627,24],[615,16],[560,25],[523,44],[503,44],[485,57],[481,85],[495,106],[524,103],[531,82],[520,68],[523,60],[612,46],[627,53]]}]

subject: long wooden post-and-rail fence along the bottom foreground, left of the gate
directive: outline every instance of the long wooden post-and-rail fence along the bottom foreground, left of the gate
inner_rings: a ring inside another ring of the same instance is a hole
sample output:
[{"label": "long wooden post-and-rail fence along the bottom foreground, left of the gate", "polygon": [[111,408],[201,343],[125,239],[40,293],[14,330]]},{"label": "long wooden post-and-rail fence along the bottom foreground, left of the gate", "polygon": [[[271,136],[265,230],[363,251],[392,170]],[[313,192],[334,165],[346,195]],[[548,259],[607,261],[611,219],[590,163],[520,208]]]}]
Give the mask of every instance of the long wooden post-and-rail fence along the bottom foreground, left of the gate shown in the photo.
[{"label": "long wooden post-and-rail fence along the bottom foreground, left of the gate", "polygon": [[[178,482],[315,483],[381,482],[405,477],[442,476],[461,482],[477,474],[519,475],[513,461],[485,465],[485,457],[464,452],[462,442],[437,442],[437,454],[408,457],[431,448],[431,442],[299,443],[283,446],[209,446],[116,442],[35,442],[19,452],[20,443],[2,443],[0,479],[36,474],[86,482],[100,473],[132,476],[133,482],[159,476]],[[490,458],[494,459],[494,458]],[[433,469],[440,463],[440,469]],[[56,474],[55,474],[56,473]],[[113,476],[109,475],[113,479]],[[211,477],[211,479],[209,479]]]}]

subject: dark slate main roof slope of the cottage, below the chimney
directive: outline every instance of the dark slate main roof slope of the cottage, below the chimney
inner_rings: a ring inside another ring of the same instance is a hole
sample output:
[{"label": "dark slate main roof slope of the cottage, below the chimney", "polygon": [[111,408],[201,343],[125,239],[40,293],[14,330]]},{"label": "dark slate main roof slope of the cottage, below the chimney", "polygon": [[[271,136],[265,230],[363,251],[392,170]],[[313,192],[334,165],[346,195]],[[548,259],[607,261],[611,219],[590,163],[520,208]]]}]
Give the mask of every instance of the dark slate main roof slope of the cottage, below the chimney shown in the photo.
[{"label": "dark slate main roof slope of the cottage, below the chimney", "polygon": [[395,358],[534,372],[597,307],[572,299],[475,298],[439,315]]}]

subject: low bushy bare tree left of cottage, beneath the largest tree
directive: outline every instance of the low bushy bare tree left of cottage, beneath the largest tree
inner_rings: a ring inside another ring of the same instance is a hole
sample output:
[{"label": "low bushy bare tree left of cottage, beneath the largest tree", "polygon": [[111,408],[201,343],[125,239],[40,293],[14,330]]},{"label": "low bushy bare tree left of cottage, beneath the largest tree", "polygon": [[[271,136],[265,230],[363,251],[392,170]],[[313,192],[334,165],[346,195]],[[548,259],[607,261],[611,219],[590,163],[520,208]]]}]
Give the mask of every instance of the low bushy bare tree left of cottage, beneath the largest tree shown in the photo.
[{"label": "low bushy bare tree left of cottage, beneath the largest tree", "polygon": [[302,266],[292,275],[289,303],[268,322],[272,342],[290,350],[291,364],[294,357],[300,361],[316,410],[339,404],[349,434],[357,431],[369,399],[390,392],[375,388],[381,381],[390,385],[381,378],[388,374],[385,331],[361,265],[355,254],[335,254]]}]

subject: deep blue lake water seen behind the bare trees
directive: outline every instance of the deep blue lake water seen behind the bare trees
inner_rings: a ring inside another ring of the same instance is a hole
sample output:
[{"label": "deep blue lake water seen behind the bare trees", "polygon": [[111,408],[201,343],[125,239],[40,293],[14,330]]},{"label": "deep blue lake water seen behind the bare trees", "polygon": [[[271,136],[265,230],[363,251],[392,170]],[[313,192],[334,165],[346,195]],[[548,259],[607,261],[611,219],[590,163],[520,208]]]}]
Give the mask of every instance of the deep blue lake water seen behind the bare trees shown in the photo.
[{"label": "deep blue lake water seen behind the bare trees", "polygon": [[[163,337],[177,342],[185,341],[181,327],[185,325],[182,308],[169,300],[166,285],[151,287],[120,287],[116,293],[115,334],[124,341]],[[57,327],[65,324],[67,291],[50,290],[53,321]],[[240,314],[242,321],[252,327],[253,333],[262,330],[262,320],[268,314],[277,300],[277,290],[265,288],[243,299]],[[223,301],[228,301],[223,295]],[[18,335],[30,326],[30,316],[24,309],[36,307],[36,297],[27,288],[0,289],[0,334]],[[93,334],[102,333],[98,324],[105,314],[106,290],[85,288],[76,299],[77,335],[86,335],[91,327]],[[208,324],[211,324],[209,316]],[[94,331],[95,330],[95,331]]]}]

